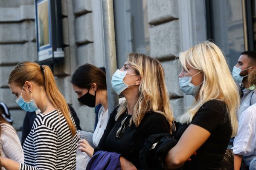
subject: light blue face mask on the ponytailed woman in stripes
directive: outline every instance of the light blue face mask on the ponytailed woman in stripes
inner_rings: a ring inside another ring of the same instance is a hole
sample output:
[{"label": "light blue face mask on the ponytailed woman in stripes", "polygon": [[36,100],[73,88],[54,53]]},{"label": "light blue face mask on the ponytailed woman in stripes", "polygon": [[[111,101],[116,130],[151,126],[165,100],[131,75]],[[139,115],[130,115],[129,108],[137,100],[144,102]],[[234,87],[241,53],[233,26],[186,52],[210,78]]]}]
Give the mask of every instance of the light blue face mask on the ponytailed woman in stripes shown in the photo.
[{"label": "light blue face mask on the ponytailed woman in stripes", "polygon": [[36,106],[35,101],[32,99],[32,92],[31,92],[30,102],[25,102],[25,100],[22,98],[22,92],[23,92],[24,86],[22,88],[20,96],[15,100],[15,102],[20,106],[20,108],[22,108],[25,111],[29,111],[29,112],[37,111],[38,107]]}]

